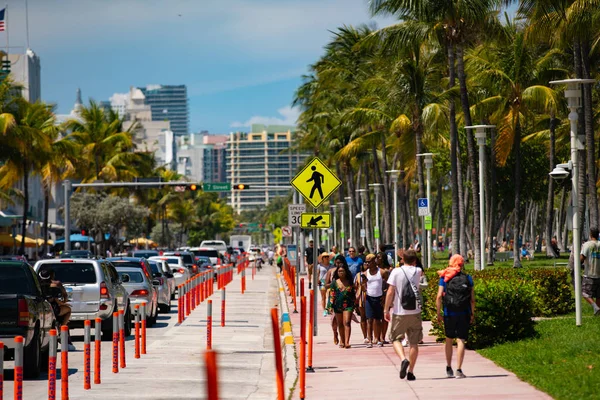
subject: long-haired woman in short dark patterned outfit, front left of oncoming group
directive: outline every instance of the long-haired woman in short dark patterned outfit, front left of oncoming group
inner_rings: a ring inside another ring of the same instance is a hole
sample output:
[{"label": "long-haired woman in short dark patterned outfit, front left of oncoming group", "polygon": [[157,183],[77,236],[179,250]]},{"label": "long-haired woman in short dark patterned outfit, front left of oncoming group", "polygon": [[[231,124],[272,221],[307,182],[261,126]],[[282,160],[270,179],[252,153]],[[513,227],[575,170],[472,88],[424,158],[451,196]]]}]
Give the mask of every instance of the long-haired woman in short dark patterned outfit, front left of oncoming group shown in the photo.
[{"label": "long-haired woman in short dark patterned outfit, front left of oncoming group", "polygon": [[335,313],[340,336],[340,348],[350,348],[352,313],[356,302],[356,290],[352,283],[352,274],[346,259],[339,255],[335,258],[335,270],[329,293],[329,306]]}]

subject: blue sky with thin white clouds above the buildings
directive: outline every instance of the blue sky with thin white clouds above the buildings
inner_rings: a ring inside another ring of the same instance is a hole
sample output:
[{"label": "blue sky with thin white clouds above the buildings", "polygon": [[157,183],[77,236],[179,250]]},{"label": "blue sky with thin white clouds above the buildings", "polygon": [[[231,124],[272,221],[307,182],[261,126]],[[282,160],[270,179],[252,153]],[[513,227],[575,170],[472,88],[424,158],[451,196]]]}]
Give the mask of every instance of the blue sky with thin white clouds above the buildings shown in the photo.
[{"label": "blue sky with thin white clouds above the buildings", "polygon": [[[8,4],[10,45],[24,47],[24,0]],[[367,0],[29,0],[44,101],[68,113],[78,87],[99,101],[185,84],[194,132],[293,122],[294,91],[329,30],[370,21]]]}]

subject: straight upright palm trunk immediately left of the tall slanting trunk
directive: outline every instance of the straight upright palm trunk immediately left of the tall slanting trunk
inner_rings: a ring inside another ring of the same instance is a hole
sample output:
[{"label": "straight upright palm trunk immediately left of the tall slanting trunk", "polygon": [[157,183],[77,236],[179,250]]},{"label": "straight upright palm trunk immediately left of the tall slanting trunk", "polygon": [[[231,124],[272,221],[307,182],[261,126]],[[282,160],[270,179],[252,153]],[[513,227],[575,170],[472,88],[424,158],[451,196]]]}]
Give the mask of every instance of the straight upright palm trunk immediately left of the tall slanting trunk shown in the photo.
[{"label": "straight upright palm trunk immediately left of the tall slanting trunk", "polygon": [[[447,44],[446,50],[448,53],[448,78],[449,88],[454,87],[456,78],[454,76],[454,48]],[[456,104],[454,100],[450,100],[450,171],[452,182],[452,253],[460,253],[460,239],[462,238],[460,228],[462,220],[462,204],[459,197],[459,163],[458,163],[458,129],[456,127]],[[461,185],[462,186],[462,185]]]}]

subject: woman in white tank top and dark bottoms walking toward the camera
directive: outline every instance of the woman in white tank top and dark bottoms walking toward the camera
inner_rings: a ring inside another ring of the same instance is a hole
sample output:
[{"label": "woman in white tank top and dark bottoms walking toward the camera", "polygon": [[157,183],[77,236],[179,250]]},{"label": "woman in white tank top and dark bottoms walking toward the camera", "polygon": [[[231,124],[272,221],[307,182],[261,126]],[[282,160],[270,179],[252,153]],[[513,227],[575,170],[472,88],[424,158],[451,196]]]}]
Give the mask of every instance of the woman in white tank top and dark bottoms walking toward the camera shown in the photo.
[{"label": "woman in white tank top and dark bottoms walking toward the camera", "polygon": [[[373,347],[375,341],[377,346],[383,347],[381,339],[381,321],[383,321],[383,277],[375,263],[375,254],[367,255],[365,259],[366,271],[366,298],[365,314],[367,317],[367,334],[369,343],[367,347]],[[373,336],[373,333],[375,335]],[[375,340],[373,340],[373,338]]]}]

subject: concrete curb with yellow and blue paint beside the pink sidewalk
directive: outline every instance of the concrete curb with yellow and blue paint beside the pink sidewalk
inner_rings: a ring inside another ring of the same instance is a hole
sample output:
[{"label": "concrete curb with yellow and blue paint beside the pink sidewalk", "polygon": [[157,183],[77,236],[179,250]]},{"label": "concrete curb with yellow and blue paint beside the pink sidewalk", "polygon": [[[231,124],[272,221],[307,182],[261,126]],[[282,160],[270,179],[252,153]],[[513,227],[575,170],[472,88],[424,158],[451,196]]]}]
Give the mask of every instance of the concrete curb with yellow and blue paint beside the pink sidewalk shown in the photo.
[{"label": "concrete curb with yellow and blue paint beside the pink sidewalk", "polygon": [[280,333],[283,333],[281,349],[283,353],[285,387],[287,388],[288,398],[291,399],[296,390],[296,382],[298,381],[298,356],[296,354],[294,335],[292,334],[292,321],[290,319],[288,298],[280,274],[277,274],[277,284],[279,286],[279,308],[281,310],[279,320]]}]

